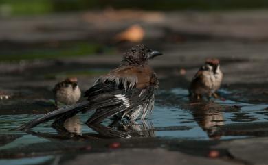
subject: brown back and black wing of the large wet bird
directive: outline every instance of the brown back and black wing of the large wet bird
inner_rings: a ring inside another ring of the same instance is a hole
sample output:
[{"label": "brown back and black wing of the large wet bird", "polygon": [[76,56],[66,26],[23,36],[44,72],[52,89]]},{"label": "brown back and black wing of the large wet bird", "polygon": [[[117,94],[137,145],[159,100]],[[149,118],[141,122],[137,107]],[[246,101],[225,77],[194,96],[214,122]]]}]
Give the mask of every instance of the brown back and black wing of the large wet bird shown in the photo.
[{"label": "brown back and black wing of the large wet bird", "polygon": [[101,121],[120,112],[128,112],[142,105],[153,95],[158,85],[157,77],[148,66],[117,68],[96,81],[85,92],[89,109],[96,110],[88,123]]}]

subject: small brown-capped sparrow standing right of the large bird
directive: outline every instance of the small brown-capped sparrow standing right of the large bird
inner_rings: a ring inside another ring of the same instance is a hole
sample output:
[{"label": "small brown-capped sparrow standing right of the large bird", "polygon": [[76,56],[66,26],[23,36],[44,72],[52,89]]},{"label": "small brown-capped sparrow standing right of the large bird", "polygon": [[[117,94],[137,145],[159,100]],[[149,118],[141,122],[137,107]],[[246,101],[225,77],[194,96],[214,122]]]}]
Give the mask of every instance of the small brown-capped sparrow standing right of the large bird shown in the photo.
[{"label": "small brown-capped sparrow standing right of the large bird", "polygon": [[200,99],[203,96],[218,98],[216,90],[220,88],[222,80],[223,73],[219,60],[208,58],[192,78],[189,88],[190,97],[195,99]]}]

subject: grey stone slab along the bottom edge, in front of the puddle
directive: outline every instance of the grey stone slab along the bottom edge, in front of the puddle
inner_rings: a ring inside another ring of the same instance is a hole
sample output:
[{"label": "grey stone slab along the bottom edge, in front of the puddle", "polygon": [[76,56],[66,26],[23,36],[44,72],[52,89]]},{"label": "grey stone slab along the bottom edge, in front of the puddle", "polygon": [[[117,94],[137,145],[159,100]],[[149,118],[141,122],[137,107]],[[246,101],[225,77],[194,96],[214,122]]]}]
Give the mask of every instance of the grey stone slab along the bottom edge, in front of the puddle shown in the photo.
[{"label": "grey stone slab along the bottom edge, in front of the puddle", "polygon": [[226,160],[210,159],[205,157],[197,157],[192,155],[186,155],[181,152],[167,151],[165,149],[124,149],[120,151],[114,151],[110,153],[93,153],[78,155],[72,160],[64,162],[65,165],[83,165],[83,164],[206,164],[206,165],[238,165],[240,163],[230,162]]}]

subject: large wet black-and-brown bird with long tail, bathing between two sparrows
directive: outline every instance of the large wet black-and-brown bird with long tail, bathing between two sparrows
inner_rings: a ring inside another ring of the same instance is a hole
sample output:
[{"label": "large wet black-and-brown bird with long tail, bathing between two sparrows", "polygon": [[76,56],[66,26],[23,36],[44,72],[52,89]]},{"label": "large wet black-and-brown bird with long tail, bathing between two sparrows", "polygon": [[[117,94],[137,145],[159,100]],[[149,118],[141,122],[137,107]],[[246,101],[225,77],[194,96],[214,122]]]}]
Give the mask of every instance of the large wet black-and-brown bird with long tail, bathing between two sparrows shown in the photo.
[{"label": "large wet black-and-brown bird with long tail, bathing between two sparrows", "polygon": [[143,120],[153,111],[154,93],[159,86],[157,75],[148,61],[161,54],[144,44],[134,45],[123,54],[118,68],[100,76],[85,92],[87,100],[44,114],[18,130],[29,131],[47,120],[55,119],[54,123],[58,123],[78,112],[91,110],[95,112],[87,120],[87,125],[101,123],[111,116],[121,120]]}]

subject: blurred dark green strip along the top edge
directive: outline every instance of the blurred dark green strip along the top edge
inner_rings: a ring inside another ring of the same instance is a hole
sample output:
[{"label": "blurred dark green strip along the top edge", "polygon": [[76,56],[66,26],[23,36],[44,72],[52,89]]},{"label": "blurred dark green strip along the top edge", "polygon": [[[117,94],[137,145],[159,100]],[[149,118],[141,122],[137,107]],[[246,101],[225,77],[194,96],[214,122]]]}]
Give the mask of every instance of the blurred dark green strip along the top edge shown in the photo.
[{"label": "blurred dark green strip along the top edge", "polygon": [[267,8],[265,0],[168,0],[168,1],[123,1],[123,0],[1,0],[2,16],[51,14],[58,12],[77,12],[85,10],[140,9],[140,10],[252,10]]}]

